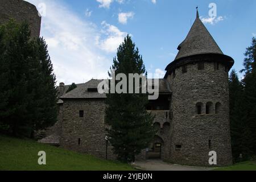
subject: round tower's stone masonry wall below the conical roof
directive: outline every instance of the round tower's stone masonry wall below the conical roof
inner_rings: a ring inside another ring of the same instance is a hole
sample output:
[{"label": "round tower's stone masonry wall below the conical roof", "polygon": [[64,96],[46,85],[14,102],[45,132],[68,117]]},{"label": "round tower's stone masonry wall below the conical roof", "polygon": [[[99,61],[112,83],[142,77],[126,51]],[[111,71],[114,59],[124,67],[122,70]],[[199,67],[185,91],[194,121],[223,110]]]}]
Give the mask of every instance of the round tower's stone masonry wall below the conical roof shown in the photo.
[{"label": "round tower's stone masonry wall below the conical roof", "polygon": [[[214,63],[204,64],[198,70],[197,64],[188,64],[187,73],[182,68],[168,76],[172,90],[172,136],[170,161],[178,164],[209,166],[209,151],[217,152],[218,166],[232,164],[229,127],[228,72],[220,64],[214,70]],[[202,113],[196,113],[196,104],[203,103]],[[210,114],[205,105],[212,102]],[[215,104],[220,102],[220,111],[215,113]],[[210,140],[210,146],[209,146]],[[176,148],[181,145],[181,148]]]}]

